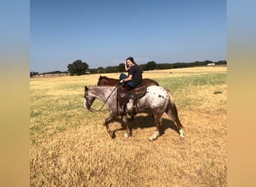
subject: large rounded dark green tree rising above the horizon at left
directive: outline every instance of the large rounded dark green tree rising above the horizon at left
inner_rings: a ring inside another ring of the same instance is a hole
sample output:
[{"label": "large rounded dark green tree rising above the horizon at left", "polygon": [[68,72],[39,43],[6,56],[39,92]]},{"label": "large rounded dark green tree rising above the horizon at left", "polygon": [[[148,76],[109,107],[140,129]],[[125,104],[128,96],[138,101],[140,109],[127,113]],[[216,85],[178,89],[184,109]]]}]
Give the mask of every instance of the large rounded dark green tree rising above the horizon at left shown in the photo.
[{"label": "large rounded dark green tree rising above the horizon at left", "polygon": [[73,64],[67,65],[67,70],[70,72],[70,76],[81,76],[85,75],[85,70],[87,70],[89,65],[86,62],[82,62],[81,60],[76,60]]}]

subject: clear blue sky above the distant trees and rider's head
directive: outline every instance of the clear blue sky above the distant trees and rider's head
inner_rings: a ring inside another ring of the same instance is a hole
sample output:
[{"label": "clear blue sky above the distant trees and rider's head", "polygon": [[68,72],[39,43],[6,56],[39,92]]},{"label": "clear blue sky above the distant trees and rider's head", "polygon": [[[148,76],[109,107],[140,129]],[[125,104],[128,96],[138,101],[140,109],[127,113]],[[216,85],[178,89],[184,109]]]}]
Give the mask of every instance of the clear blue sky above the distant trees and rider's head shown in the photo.
[{"label": "clear blue sky above the distant trees and rider's head", "polygon": [[227,1],[30,1],[30,69],[226,60]]}]

